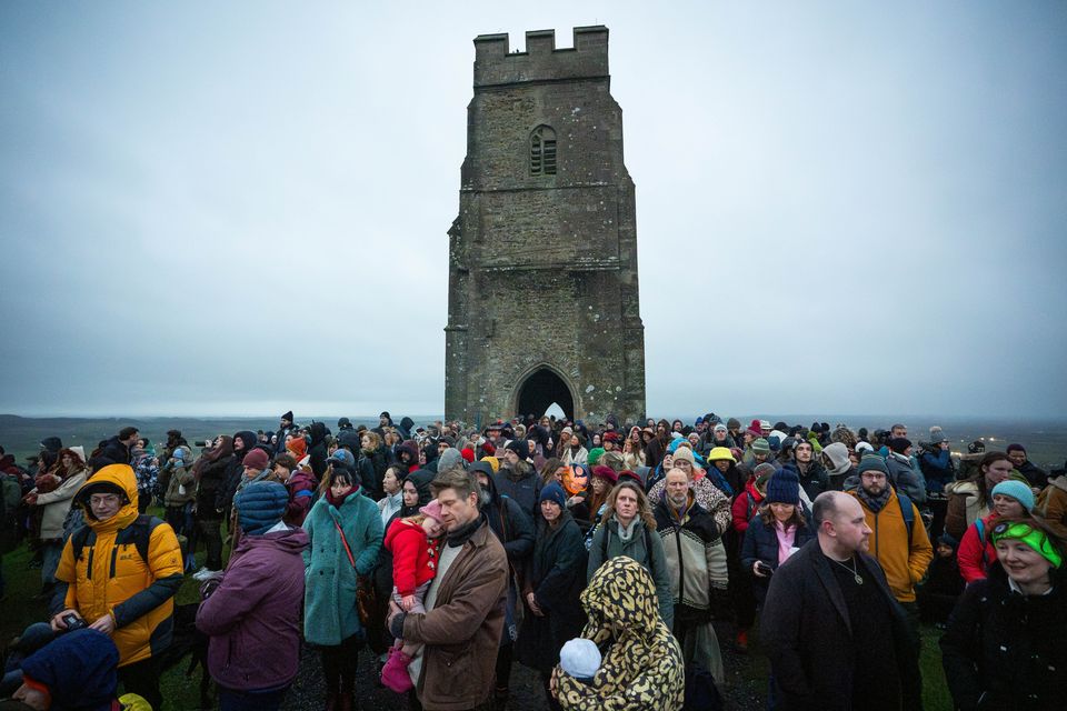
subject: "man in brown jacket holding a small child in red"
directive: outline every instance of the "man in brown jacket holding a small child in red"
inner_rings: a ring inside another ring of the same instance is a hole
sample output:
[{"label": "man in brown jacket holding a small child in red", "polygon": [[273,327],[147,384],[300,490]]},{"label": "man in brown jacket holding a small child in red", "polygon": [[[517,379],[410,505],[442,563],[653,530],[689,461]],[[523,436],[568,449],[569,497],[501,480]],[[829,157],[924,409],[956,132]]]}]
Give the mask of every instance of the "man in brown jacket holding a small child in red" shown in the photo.
[{"label": "man in brown jacket holding a small child in red", "polygon": [[426,593],[426,613],[391,605],[389,630],[426,647],[408,668],[426,711],[466,711],[492,691],[497,647],[503,630],[508,559],[478,510],[475,475],[438,473],[430,489],[441,504],[447,541],[437,577]]}]

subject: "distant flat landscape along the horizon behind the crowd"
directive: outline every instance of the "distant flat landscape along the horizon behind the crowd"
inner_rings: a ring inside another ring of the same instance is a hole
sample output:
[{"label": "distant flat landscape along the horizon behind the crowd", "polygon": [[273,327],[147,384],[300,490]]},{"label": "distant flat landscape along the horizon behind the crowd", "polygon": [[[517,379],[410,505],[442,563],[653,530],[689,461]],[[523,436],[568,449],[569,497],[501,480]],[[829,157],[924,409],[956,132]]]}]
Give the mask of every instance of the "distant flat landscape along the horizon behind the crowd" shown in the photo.
[{"label": "distant flat landscape along the horizon behind the crowd", "polygon": [[[339,417],[348,417],[352,424],[376,427],[377,415],[323,415],[300,419],[299,424],[312,421],[326,422],[331,431],[337,430]],[[393,419],[399,421],[403,413],[395,413]],[[420,414],[408,415],[416,424],[426,424],[440,420],[441,415]],[[692,423],[697,415],[678,415],[682,421]],[[722,415],[724,419],[726,415]],[[866,427],[869,430],[888,428],[894,422],[903,422],[908,427],[908,437],[913,442],[926,440],[929,437],[931,424],[941,427],[953,443],[953,451],[965,452],[967,443],[977,439],[986,441],[987,451],[1003,450],[1010,442],[1019,442],[1027,449],[1030,461],[1045,469],[1063,467],[1067,460],[1067,420],[1039,418],[935,418],[930,415],[811,415],[811,414],[761,414],[737,417],[747,423],[754,417],[775,422],[784,420],[789,423],[808,425],[814,421],[829,422],[831,427],[845,423],[854,430]],[[668,415],[668,419],[674,419]],[[191,417],[137,417],[137,418],[23,418],[16,414],[0,414],[0,444],[16,455],[20,463],[26,457],[36,454],[40,450],[40,441],[46,437],[58,437],[64,445],[80,444],[86,452],[92,451],[100,440],[116,434],[121,428],[132,425],[140,429],[141,434],[153,443],[166,441],[168,430],[181,430],[189,442],[203,440],[217,434],[232,434],[240,430],[277,430],[277,417],[247,417],[247,418],[191,418]]]}]

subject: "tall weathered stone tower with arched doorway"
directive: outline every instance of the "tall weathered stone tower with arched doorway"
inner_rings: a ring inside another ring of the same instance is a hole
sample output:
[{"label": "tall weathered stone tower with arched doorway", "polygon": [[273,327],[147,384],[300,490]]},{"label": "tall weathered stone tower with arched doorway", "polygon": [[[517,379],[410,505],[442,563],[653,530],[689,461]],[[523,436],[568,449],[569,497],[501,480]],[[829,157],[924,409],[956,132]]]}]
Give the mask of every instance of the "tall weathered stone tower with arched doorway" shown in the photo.
[{"label": "tall weathered stone tower with arched doorway", "polygon": [[634,181],[608,29],[475,39],[459,217],[449,230],[445,417],[645,414]]}]

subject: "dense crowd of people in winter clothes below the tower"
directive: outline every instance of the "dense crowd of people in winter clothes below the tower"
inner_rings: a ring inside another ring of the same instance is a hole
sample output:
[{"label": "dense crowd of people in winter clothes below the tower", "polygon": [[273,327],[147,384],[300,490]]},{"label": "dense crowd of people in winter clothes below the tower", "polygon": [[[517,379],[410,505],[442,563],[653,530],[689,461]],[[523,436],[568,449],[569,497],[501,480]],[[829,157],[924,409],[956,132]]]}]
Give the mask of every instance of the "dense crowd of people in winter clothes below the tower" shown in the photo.
[{"label": "dense crowd of people in winter clothes below the tower", "polygon": [[50,613],[0,708],[160,709],[190,578],[223,710],[280,708],[305,648],[337,711],[360,705],[360,653],[411,709],[505,709],[515,662],[551,709],[714,708],[721,645],[747,653],[757,620],[770,709],[921,708],[928,625],[957,708],[1067,698],[1067,477],[1021,444],[287,412],[192,444],[128,427],[88,455],[51,437],[30,463],[0,459],[4,537],[29,539]]}]

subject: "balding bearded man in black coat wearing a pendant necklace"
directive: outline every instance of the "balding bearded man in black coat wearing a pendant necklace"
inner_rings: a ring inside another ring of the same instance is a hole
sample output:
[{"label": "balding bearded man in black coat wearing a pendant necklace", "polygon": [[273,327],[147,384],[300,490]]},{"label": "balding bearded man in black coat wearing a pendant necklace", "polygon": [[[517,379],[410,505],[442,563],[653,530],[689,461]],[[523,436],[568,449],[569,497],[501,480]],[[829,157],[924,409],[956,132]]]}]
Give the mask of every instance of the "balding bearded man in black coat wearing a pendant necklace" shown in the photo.
[{"label": "balding bearded man in black coat wearing a pendant necklace", "polygon": [[852,497],[812,505],[818,538],[771,578],[760,623],[780,709],[921,709],[918,640],[877,561]]}]

